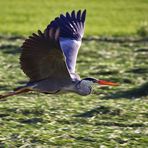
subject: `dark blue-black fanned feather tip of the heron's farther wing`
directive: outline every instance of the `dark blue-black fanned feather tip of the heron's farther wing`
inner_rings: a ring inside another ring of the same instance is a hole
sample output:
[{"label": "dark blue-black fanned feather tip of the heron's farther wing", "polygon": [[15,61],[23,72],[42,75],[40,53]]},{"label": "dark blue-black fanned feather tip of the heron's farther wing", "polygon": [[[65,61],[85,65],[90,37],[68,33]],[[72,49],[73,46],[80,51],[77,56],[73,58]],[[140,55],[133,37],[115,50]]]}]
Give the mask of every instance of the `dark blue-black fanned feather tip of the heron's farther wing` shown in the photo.
[{"label": "dark blue-black fanned feather tip of the heron's farther wing", "polygon": [[[73,10],[71,13],[66,12],[66,14],[60,14],[56,17],[46,28],[44,34],[46,37],[52,37],[53,32],[59,28],[56,32],[55,39],[60,37],[73,38],[76,40],[81,40],[84,34],[84,23],[86,17],[86,9],[84,10]],[[54,31],[51,31],[51,29]]]}]

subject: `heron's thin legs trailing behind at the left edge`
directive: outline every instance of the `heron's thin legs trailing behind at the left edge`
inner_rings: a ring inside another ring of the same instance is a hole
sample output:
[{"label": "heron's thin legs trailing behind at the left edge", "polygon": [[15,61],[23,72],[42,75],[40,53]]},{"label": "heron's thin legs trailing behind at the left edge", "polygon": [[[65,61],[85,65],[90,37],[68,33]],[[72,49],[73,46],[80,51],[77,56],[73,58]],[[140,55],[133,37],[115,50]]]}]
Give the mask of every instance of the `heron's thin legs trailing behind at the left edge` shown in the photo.
[{"label": "heron's thin legs trailing behind at the left edge", "polygon": [[28,91],[30,91],[30,90],[26,86],[18,87],[16,89],[14,89],[14,91],[12,91],[12,92],[8,92],[6,94],[0,95],[0,99],[6,98],[9,96],[14,96],[14,95],[21,94],[21,93],[25,93]]}]

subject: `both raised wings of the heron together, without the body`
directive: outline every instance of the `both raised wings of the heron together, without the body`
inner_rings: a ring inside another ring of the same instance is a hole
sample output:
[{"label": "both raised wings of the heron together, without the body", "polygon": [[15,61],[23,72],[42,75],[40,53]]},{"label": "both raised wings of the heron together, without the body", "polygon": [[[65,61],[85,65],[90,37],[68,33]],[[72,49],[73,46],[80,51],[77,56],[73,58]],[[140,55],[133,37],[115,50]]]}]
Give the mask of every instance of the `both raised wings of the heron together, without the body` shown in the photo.
[{"label": "both raised wings of the heron together, without the body", "polygon": [[30,81],[71,80],[84,33],[86,10],[56,17],[44,33],[33,33],[22,45],[21,68]]}]

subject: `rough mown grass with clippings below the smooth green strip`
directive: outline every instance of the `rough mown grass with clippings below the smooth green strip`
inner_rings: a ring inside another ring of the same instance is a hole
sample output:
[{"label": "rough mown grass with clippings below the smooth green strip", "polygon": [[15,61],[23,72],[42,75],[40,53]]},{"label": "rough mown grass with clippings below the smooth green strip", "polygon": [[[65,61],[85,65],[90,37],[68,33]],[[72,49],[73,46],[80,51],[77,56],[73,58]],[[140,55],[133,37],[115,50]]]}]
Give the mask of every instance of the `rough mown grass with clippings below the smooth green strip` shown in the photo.
[{"label": "rough mown grass with clippings below the smooth green strip", "polygon": [[[27,78],[20,70],[21,39],[0,39],[0,94]],[[29,93],[0,102],[0,147],[146,148],[148,43],[85,41],[81,77],[119,82],[92,95]],[[138,93],[137,93],[138,92]]]}]

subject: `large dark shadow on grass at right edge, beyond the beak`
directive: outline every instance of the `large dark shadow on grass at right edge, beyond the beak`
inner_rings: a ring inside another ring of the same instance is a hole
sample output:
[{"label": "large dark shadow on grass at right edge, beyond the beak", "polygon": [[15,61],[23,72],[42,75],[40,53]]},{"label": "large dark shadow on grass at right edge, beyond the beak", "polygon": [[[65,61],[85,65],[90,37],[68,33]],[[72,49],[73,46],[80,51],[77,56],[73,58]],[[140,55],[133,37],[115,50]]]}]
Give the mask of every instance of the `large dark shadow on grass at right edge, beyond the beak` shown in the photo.
[{"label": "large dark shadow on grass at right edge, beyond the beak", "polygon": [[148,82],[127,91],[120,91],[116,92],[116,94],[105,96],[103,97],[103,99],[120,99],[120,98],[136,99],[146,96],[148,96]]}]

